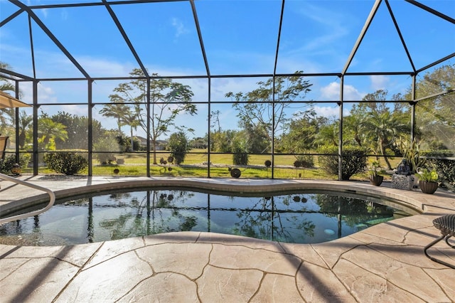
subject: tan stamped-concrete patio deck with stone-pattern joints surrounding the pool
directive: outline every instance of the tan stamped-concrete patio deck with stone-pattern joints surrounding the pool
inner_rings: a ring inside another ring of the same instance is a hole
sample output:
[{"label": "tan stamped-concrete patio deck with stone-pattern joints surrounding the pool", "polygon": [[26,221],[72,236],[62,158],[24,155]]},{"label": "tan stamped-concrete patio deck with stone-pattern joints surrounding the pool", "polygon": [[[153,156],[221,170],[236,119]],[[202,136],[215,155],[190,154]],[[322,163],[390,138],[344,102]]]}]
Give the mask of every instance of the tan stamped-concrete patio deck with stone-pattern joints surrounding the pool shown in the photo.
[{"label": "tan stamped-concrete patio deck with stone-pattern joints surrounding the pool", "polygon": [[[423,248],[432,220],[455,213],[455,194],[350,181],[21,176],[57,196],[127,184],[228,185],[232,191],[318,187],[400,199],[422,214],[320,244],[274,243],[216,233],[166,233],[73,246],[0,245],[1,302],[455,302],[455,270]],[[1,181],[0,207],[41,192]],[[24,200],[25,199],[25,200]],[[441,241],[431,250],[455,264]]]}]

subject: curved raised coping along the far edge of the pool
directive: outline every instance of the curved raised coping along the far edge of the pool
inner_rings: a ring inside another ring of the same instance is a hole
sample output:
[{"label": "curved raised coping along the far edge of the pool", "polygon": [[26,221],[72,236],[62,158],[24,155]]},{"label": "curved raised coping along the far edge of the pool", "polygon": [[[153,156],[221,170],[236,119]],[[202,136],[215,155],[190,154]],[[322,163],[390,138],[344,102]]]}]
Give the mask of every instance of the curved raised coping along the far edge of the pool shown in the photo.
[{"label": "curved raised coping along the far edge of the pool", "polygon": [[[78,186],[77,188],[66,188],[54,191],[56,199],[68,198],[85,193],[100,193],[109,190],[122,190],[147,188],[147,187],[180,187],[183,189],[198,189],[201,191],[213,191],[223,193],[277,193],[280,191],[336,191],[346,193],[351,196],[369,196],[372,198],[387,198],[392,203],[401,204],[411,208],[417,213],[423,213],[427,210],[424,203],[412,198],[409,192],[403,193],[403,190],[388,191],[386,187],[365,186],[364,183],[347,182],[347,181],[314,181],[314,180],[272,180],[267,184],[260,184],[262,180],[247,179],[239,181],[232,179],[184,179],[184,178],[150,178],[139,180],[113,179],[114,181]],[[1,205],[0,216],[9,216],[10,213],[20,211],[23,208],[35,206],[40,203],[49,201],[47,193],[41,193],[27,198],[10,201]],[[393,205],[390,205],[395,207]]]}]

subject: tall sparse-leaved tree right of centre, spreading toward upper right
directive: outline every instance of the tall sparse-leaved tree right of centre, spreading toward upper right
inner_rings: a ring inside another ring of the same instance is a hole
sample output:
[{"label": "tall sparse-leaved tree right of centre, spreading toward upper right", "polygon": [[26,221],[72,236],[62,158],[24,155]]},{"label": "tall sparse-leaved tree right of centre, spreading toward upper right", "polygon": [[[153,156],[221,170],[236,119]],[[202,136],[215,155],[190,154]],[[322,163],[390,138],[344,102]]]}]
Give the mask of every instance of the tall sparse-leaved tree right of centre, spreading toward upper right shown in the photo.
[{"label": "tall sparse-leaved tree right of centre, spreading toward upper right", "polygon": [[280,127],[287,122],[286,109],[291,102],[297,98],[303,100],[310,92],[311,84],[299,75],[301,73],[298,70],[292,76],[275,78],[274,87],[270,78],[259,81],[258,87],[251,92],[228,92],[225,96],[234,100],[232,107],[237,110],[240,127],[271,142],[272,134],[283,130]]}]

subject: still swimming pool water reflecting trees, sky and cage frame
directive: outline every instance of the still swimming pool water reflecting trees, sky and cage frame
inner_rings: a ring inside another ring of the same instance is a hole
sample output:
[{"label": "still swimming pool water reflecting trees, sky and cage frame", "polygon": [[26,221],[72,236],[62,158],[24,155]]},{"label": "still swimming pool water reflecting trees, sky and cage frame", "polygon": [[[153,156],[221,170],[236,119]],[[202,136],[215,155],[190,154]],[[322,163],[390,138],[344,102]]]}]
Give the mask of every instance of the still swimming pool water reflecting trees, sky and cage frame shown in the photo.
[{"label": "still swimming pool water reflecting trees, sky and cage frame", "polygon": [[72,245],[185,230],[321,243],[402,216],[409,214],[328,193],[227,196],[155,188],[59,201],[40,216],[1,225],[0,243]]}]

